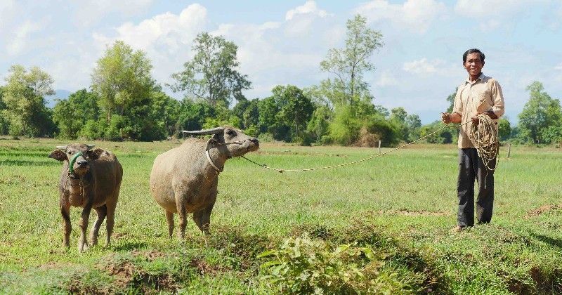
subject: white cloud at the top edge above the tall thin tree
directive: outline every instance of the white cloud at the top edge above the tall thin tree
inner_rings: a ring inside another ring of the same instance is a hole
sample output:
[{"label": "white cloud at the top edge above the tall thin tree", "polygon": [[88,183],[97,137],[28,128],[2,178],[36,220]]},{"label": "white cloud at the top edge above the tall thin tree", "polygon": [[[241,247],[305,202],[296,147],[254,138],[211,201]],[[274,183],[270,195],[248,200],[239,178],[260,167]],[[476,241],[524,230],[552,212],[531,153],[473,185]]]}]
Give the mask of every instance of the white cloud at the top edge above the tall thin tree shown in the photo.
[{"label": "white cloud at the top edge above the tall thin tree", "polygon": [[373,0],[360,5],[355,13],[365,15],[370,22],[391,22],[412,32],[424,33],[434,20],[446,15],[447,8],[436,0],[407,0],[404,4]]}]

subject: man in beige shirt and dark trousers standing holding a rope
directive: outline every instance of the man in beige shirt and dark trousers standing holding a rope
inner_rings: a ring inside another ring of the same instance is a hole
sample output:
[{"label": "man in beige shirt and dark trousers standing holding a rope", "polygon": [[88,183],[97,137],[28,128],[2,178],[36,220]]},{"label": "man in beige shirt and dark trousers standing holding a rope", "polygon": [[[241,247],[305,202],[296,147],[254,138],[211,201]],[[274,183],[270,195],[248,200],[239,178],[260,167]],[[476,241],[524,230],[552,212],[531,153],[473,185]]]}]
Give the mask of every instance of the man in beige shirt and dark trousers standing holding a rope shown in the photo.
[{"label": "man in beige shirt and dark trousers standing holding a rope", "polygon": [[[478,114],[486,114],[494,122],[504,114],[504,96],[499,83],[482,73],[485,55],[476,48],[467,50],[462,55],[462,63],[468,79],[457,90],[452,113],[442,113],[445,124],[464,124],[459,132],[459,178],[457,194],[459,211],[457,227],[460,231],[474,225],[474,181],[478,181],[478,199],[476,200],[476,218],[478,223],[490,223],[494,204],[494,171],[487,171],[483,161],[468,136],[472,124],[478,124]],[[467,122],[471,121],[468,124]],[[496,126],[497,128],[497,126]],[[495,165],[495,160],[492,166]]]}]

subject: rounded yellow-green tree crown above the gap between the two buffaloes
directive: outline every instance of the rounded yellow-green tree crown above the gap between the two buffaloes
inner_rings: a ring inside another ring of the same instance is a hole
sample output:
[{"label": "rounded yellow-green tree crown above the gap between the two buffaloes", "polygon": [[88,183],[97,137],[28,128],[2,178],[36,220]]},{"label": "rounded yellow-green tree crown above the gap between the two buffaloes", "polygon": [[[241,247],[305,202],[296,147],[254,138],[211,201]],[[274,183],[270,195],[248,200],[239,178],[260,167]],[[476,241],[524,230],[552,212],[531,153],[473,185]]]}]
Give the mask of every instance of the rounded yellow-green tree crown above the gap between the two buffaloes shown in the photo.
[{"label": "rounded yellow-green tree crown above the gap between the two buffaloes", "polygon": [[112,114],[127,116],[131,107],[146,105],[155,88],[152,65],[143,51],[115,41],[98,60],[92,74],[92,90],[100,97],[107,122]]}]

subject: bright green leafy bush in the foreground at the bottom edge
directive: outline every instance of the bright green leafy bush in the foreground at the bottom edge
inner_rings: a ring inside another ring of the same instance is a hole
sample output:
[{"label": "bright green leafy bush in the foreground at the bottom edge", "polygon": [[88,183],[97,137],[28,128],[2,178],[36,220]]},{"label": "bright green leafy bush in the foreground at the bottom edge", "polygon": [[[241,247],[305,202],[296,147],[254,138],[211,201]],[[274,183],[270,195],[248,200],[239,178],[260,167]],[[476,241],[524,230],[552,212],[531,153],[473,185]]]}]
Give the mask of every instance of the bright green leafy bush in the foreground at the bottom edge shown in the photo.
[{"label": "bright green leafy bush in the foreground at the bottom edge", "polygon": [[285,240],[280,249],[259,257],[263,276],[282,293],[361,294],[396,289],[395,275],[379,275],[382,258],[370,247],[341,244],[333,247],[308,235]]}]

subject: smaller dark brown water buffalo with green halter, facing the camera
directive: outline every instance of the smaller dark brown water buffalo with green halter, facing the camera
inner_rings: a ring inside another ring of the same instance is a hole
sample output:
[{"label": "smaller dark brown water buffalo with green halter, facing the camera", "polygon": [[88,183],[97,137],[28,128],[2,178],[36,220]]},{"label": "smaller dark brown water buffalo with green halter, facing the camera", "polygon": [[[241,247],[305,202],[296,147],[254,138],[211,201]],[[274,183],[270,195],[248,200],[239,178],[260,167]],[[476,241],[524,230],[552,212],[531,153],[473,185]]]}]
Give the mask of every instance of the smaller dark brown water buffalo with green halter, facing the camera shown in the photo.
[{"label": "smaller dark brown water buffalo with green halter, facing the camera", "polygon": [[88,249],[86,228],[92,208],[98,213],[98,219],[93,224],[90,243],[92,246],[98,244],[100,225],[107,216],[105,247],[109,246],[123,178],[123,168],[117,157],[110,151],[100,148],[93,150],[93,145],[79,143],[58,146],[48,157],[64,162],[58,187],[65,234],[63,245],[70,247],[70,206],[76,206],[84,208],[79,223],[81,234],[78,250]]}]

